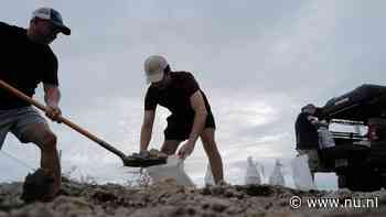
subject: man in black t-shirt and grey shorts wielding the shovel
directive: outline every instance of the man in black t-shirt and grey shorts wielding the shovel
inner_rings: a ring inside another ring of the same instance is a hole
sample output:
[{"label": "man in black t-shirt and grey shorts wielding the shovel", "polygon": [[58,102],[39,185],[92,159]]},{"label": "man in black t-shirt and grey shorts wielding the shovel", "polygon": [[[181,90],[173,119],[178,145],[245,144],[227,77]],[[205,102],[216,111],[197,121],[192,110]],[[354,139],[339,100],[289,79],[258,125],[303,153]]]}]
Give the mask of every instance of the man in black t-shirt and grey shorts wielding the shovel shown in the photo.
[{"label": "man in black t-shirt and grey shorts wielding the shovel", "polygon": [[[49,46],[58,33],[71,34],[62,15],[50,8],[35,10],[29,28],[22,29],[0,22],[0,79],[32,97],[43,83],[46,116],[61,116],[57,80],[57,58]],[[0,149],[8,132],[21,142],[33,142],[41,149],[41,167],[53,178],[51,195],[61,186],[61,165],[56,137],[45,119],[28,102],[0,89]]]}]

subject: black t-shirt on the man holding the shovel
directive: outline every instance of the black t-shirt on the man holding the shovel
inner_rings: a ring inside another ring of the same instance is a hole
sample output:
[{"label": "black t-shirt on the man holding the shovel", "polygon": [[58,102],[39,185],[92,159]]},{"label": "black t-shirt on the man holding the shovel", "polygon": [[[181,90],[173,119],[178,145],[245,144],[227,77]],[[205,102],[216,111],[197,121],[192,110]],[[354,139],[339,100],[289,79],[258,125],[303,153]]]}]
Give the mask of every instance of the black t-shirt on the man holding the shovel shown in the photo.
[{"label": "black t-shirt on the man holding the shovel", "polygon": [[[58,85],[57,58],[49,45],[32,42],[25,29],[0,22],[0,79],[32,97],[41,82]],[[28,105],[0,88],[0,110]]]}]

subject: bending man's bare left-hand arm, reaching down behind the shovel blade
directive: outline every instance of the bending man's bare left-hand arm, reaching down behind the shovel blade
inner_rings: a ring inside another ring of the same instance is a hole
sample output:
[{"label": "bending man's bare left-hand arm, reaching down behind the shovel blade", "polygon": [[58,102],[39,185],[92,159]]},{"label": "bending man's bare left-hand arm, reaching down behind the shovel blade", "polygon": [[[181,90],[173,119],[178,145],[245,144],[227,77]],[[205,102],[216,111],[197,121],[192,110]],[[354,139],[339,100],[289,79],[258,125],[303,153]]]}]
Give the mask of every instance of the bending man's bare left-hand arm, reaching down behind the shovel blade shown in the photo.
[{"label": "bending man's bare left-hand arm, reaching down behind the shovel blade", "polygon": [[143,123],[141,127],[140,151],[148,149],[153,130],[156,110],[144,110]]}]

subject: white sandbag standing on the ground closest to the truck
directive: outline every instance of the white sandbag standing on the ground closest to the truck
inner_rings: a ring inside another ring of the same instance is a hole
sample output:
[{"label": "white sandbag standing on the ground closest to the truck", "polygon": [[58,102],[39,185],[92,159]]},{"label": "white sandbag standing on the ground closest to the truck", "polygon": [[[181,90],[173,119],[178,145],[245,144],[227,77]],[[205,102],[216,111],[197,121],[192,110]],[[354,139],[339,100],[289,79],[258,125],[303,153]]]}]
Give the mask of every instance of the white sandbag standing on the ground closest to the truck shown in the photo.
[{"label": "white sandbag standing on the ground closest to the truck", "polygon": [[293,183],[298,189],[317,189],[308,164],[308,156],[305,154],[294,158],[291,162],[291,167]]}]

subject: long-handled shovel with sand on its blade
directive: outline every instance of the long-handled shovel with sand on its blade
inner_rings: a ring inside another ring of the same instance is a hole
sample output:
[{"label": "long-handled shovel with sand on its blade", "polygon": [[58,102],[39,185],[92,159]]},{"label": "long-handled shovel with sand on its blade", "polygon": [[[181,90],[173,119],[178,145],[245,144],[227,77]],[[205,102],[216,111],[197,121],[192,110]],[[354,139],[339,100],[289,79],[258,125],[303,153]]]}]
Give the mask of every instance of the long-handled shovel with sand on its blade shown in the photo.
[{"label": "long-handled shovel with sand on its blade", "polygon": [[[0,79],[0,87],[10,91],[12,95],[23,99],[24,101],[35,106],[36,108],[41,109],[42,111],[46,111],[45,106],[40,104],[39,101],[32,99],[31,97],[24,95],[22,91],[19,89],[12,87],[11,85],[4,83],[3,80]],[[114,148],[111,144],[107,143],[106,141],[97,138],[96,135],[92,134],[87,130],[81,128],[79,126],[75,124],[71,120],[60,116],[57,117],[57,120],[60,122],[65,123],[69,128],[74,129],[75,131],[79,132],[81,134],[85,135],[86,138],[93,140],[94,142],[98,143],[100,147],[105,148],[109,152],[116,154],[119,156],[125,166],[133,166],[133,167],[147,167],[151,165],[158,165],[158,164],[164,164],[167,163],[167,158],[149,158],[149,154],[133,154],[130,156],[127,156],[124,152],[119,151],[118,149]]]}]

